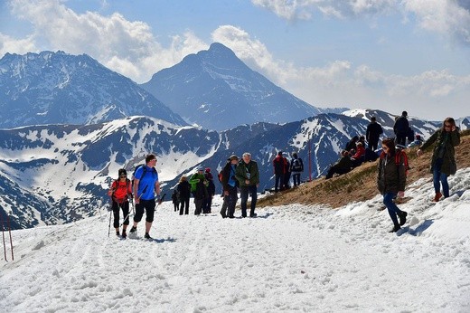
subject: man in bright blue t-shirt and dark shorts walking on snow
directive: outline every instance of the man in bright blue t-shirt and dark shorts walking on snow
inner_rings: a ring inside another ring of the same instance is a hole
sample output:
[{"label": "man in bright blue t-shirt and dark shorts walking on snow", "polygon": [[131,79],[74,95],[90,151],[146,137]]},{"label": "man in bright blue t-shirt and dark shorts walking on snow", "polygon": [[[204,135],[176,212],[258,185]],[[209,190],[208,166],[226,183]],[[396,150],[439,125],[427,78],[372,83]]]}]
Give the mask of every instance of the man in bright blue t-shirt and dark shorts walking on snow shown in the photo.
[{"label": "man in bright blue t-shirt and dark shorts walking on snow", "polygon": [[134,225],[130,232],[137,231],[137,224],[142,220],[144,211],[146,211],[146,239],[150,237],[150,228],[154,222],[155,213],[155,194],[158,203],[160,200],[160,182],[158,181],[158,173],[155,169],[156,156],[149,154],[146,156],[146,165],[136,169],[134,174],[134,202],[136,203],[136,214],[134,215]]}]

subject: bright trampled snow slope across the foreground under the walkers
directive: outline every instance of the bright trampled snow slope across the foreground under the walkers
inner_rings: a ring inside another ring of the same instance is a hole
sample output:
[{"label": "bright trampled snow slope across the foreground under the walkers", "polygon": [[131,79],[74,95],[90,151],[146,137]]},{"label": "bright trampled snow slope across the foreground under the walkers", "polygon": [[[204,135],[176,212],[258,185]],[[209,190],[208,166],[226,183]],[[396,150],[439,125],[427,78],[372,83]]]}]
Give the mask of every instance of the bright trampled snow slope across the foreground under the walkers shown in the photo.
[{"label": "bright trampled snow slope across the foreground under the walkers", "polygon": [[[162,204],[143,237],[119,240],[108,213],[14,231],[0,260],[7,312],[467,312],[470,309],[470,169],[433,204],[419,180],[391,227],[381,196],[338,210],[286,205],[256,219],[179,216]],[[193,209],[193,204],[192,209]],[[240,215],[237,211],[236,215]]]}]

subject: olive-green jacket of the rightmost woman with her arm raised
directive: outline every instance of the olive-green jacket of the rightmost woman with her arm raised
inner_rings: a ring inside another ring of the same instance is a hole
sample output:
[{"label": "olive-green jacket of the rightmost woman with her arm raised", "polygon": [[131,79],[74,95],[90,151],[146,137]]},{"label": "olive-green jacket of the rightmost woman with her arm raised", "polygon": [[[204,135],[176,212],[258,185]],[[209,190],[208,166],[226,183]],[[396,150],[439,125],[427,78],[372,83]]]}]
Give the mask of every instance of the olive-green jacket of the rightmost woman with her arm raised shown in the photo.
[{"label": "olive-green jacket of the rightmost woman with her arm raised", "polygon": [[424,150],[427,147],[436,143],[431,158],[431,173],[434,170],[438,158],[442,158],[441,173],[446,175],[453,175],[451,173],[451,163],[456,162],[456,149],[454,147],[460,145],[460,133],[456,128],[454,131],[445,131],[442,128],[438,129],[426,142],[420,147]]}]

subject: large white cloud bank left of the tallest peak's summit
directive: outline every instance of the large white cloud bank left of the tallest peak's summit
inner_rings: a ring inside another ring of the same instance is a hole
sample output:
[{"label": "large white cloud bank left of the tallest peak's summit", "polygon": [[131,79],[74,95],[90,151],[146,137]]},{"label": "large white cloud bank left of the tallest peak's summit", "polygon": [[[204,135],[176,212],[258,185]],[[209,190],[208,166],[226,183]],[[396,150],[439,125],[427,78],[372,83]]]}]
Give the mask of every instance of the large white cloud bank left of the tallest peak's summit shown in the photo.
[{"label": "large white cloud bank left of the tallest peak's summit", "polygon": [[[103,5],[107,5],[106,2]],[[208,47],[193,33],[175,36],[169,49],[155,40],[150,26],[130,22],[122,14],[103,16],[94,12],[76,14],[59,0],[14,0],[12,13],[33,24],[29,51],[44,42],[47,50],[72,54],[83,52],[136,82],[148,81],[152,74],[180,62],[190,52]],[[4,50],[22,52],[11,44]]]}]

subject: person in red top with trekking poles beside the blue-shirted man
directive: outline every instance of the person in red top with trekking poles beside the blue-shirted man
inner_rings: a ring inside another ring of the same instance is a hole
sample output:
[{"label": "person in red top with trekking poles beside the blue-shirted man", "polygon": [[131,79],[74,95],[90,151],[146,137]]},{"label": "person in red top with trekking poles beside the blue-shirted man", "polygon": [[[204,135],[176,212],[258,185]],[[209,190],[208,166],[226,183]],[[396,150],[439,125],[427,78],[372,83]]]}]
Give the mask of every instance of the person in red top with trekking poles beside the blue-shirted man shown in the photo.
[{"label": "person in red top with trekking poles beside the blue-shirted man", "polygon": [[111,210],[114,215],[114,228],[116,235],[119,235],[119,208],[122,210],[124,216],[124,223],[122,223],[122,238],[127,237],[126,229],[129,224],[129,196],[132,199],[132,188],[130,181],[127,179],[127,171],[124,168],[118,170],[118,179],[113,181],[109,188],[108,195],[111,197],[112,206]]}]

